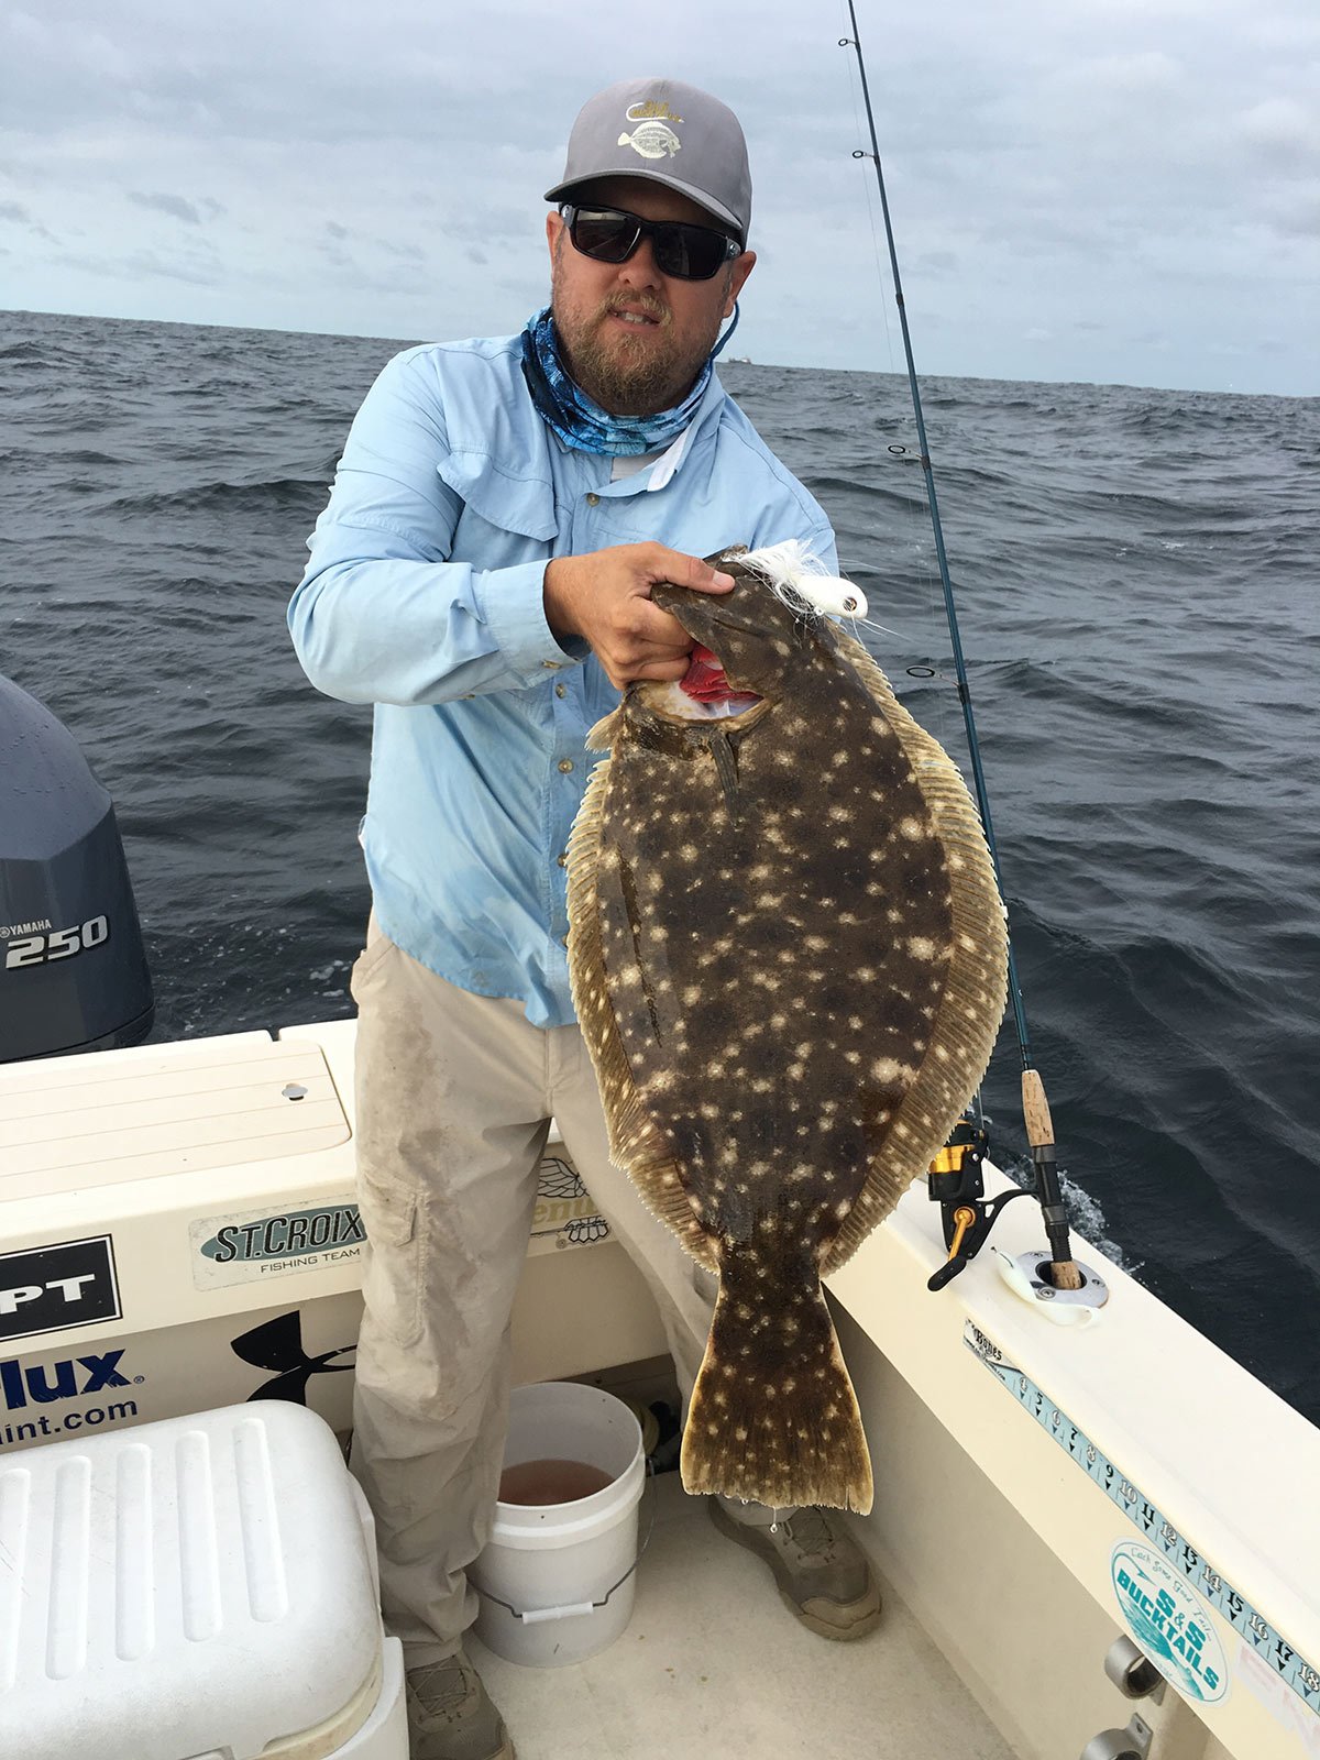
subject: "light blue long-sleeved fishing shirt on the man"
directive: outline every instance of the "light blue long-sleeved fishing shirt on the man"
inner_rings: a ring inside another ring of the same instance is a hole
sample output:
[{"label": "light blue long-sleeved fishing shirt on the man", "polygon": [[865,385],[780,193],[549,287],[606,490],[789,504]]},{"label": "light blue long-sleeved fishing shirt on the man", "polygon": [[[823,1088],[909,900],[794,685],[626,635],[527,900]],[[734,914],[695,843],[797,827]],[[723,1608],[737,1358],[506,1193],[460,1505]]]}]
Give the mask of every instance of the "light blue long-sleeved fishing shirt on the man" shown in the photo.
[{"label": "light blue long-sleeved fishing shirt on the man", "polygon": [[801,539],[836,572],[825,514],[711,375],[658,459],[612,459],[542,422],[521,338],[410,348],[348,433],[289,605],[317,690],[375,704],[363,847],[405,952],[537,1026],[576,1019],[568,831],[620,700],[546,623],[546,563],[655,540],[693,556]]}]

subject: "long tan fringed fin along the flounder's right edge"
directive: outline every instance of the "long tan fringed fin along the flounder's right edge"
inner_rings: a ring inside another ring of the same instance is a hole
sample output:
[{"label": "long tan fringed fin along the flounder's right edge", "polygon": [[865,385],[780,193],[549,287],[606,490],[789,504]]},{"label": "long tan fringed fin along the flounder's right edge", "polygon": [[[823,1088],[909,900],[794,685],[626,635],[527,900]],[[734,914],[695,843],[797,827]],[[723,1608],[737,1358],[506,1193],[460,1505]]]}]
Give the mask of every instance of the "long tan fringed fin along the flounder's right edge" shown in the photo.
[{"label": "long tan fringed fin along the flounder's right edge", "polygon": [[822,1276],[838,1271],[857,1251],[949,1140],[986,1074],[1008,994],[1008,931],[977,804],[954,760],[913,722],[862,644],[840,630],[834,639],[898,734],[949,852],[952,942],[917,1077],[866,1184],[825,1250]]}]

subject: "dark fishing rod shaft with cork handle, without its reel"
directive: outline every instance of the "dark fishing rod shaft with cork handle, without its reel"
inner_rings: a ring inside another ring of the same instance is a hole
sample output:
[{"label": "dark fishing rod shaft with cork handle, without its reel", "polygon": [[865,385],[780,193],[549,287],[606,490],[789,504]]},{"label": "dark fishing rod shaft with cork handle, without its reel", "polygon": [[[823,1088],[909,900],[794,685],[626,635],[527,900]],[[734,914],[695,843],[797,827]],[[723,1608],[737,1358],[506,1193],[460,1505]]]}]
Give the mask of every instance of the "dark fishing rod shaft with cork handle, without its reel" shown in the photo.
[{"label": "dark fishing rod shaft with cork handle, without its reel", "polygon": [[[972,711],[972,686],[966,676],[966,660],[963,658],[963,637],[957,628],[957,605],[954,604],[954,586],[949,577],[949,558],[943,546],[943,528],[940,524],[940,503],[935,493],[935,472],[931,468],[931,449],[926,442],[926,417],[920,407],[920,387],[917,384],[917,364],[912,354],[912,333],[908,329],[908,312],[903,301],[903,275],[898,266],[898,245],[894,243],[894,225],[889,215],[889,195],[885,192],[885,174],[880,164],[880,141],[875,132],[875,111],[871,109],[871,90],[866,79],[866,60],[862,56],[861,33],[857,30],[857,9],[854,0],[848,0],[848,19],[852,25],[850,37],[840,37],[841,49],[857,51],[857,74],[862,83],[862,102],[866,106],[866,123],[871,136],[871,151],[864,148],[854,150],[854,158],[869,158],[875,165],[875,181],[880,194],[880,213],[885,222],[885,243],[889,246],[889,268],[894,282],[894,303],[898,306],[899,329],[903,333],[903,356],[908,368],[908,389],[912,392],[912,414],[917,424],[917,440],[920,444],[920,468],[926,480],[926,505],[931,514],[931,532],[935,533],[935,556],[940,567],[940,586],[943,590],[945,620],[949,623],[949,637],[954,648],[954,671],[957,674],[957,700],[963,706],[963,725],[966,729],[968,755],[972,759],[972,778],[975,783],[977,806],[980,808],[980,822],[986,832],[986,845],[989,847],[991,862],[994,864],[994,878],[1000,887],[1000,896],[1003,896],[1003,873],[1000,868],[1000,852],[994,843],[994,827],[991,824],[989,810],[989,792],[986,788],[986,773],[980,764],[980,743],[977,739],[977,720]],[[1045,1234],[1049,1237],[1051,1248],[1051,1276],[1056,1288],[1077,1290],[1082,1283],[1082,1274],[1072,1260],[1072,1248],[1068,1244],[1068,1220],[1063,1209],[1063,1193],[1060,1188],[1058,1162],[1054,1151],[1054,1126],[1049,1116],[1049,1105],[1045,1102],[1045,1089],[1040,1082],[1040,1075],[1033,1065],[1031,1058],[1031,1040],[1026,1030],[1026,1010],[1023,1007],[1023,991],[1017,980],[1017,959],[1014,956],[1012,940],[1008,942],[1008,1000],[1012,1001],[1014,1023],[1017,1028],[1017,1047],[1023,1058],[1023,1112],[1026,1118],[1026,1135],[1031,1144],[1031,1160],[1037,1169],[1037,1197],[1040,1199],[1040,1209],[1045,1221]]]}]

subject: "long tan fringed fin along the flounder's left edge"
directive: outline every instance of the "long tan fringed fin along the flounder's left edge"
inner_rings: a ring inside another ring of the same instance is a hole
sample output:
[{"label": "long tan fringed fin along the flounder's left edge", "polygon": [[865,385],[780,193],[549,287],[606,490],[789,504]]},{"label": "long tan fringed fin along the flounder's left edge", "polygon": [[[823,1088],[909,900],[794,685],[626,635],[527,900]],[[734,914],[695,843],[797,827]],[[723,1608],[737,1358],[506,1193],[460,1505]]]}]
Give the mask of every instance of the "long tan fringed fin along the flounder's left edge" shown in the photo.
[{"label": "long tan fringed fin along the flounder's left edge", "polygon": [[597,764],[568,838],[568,984],[600,1084],[609,1158],[628,1174],[646,1207],[674,1230],[686,1251],[715,1271],[715,1248],[688,1204],[665,1139],[642,1107],[609,998],[598,898],[609,773],[609,759]]}]

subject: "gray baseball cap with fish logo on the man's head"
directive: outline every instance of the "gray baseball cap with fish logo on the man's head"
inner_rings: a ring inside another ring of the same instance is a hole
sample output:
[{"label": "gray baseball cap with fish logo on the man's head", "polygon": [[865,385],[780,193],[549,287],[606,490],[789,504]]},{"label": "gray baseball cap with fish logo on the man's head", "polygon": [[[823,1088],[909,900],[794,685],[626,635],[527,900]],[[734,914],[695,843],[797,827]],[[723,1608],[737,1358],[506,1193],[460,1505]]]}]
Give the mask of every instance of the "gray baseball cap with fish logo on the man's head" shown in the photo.
[{"label": "gray baseball cap with fish logo on the man's head", "polygon": [[547,202],[595,178],[649,178],[700,202],[741,245],[752,224],[752,172],[737,116],[681,79],[621,79],[588,99],[568,136],[563,178]]}]

